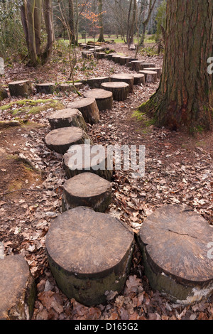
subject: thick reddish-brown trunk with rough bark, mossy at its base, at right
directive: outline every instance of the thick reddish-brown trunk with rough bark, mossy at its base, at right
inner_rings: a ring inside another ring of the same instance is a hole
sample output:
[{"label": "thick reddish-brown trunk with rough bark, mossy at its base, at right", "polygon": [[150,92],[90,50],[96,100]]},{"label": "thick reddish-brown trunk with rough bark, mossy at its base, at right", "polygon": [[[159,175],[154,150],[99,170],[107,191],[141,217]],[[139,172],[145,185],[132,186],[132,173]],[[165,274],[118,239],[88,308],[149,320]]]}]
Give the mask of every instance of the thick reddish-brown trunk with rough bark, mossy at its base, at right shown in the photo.
[{"label": "thick reddish-brown trunk with rough bark, mossy at its base, at right", "polygon": [[156,125],[190,132],[211,128],[213,2],[169,0],[160,86],[139,109]]}]

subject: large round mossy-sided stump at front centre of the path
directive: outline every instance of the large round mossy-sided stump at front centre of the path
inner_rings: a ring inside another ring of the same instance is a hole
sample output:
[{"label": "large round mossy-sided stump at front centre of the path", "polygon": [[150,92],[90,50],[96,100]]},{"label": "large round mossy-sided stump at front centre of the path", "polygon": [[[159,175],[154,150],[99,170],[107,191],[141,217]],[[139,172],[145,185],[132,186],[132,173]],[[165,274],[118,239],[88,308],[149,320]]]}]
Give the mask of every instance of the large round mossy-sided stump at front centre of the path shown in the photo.
[{"label": "large round mossy-sided stump at front centre of the path", "polygon": [[46,236],[58,287],[85,306],[104,303],[109,293],[124,289],[133,248],[133,232],[124,222],[85,207],[63,212]]}]

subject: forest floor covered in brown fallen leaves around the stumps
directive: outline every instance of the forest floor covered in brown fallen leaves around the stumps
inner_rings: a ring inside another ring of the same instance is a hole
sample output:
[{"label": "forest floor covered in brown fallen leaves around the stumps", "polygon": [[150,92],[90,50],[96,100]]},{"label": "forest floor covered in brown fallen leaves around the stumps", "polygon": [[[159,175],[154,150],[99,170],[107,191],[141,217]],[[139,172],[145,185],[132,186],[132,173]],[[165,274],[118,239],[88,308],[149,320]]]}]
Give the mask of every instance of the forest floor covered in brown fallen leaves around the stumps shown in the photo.
[{"label": "forest floor covered in brown fallen leaves around the stumps", "polygon": [[[126,45],[109,46],[125,55],[134,54]],[[82,60],[79,50],[77,54],[75,80],[131,72],[128,67],[109,60]],[[162,55],[138,55],[138,58],[148,58],[160,67],[163,63]],[[42,68],[28,68],[20,63],[6,66],[1,83],[7,85],[10,81],[27,79],[33,83],[63,82],[67,81],[69,71],[67,58],[55,50],[53,60]],[[113,109],[101,113],[99,124],[88,126],[88,134],[95,144],[146,147],[143,178],[133,178],[130,171],[114,172],[113,198],[107,212],[138,233],[143,221],[155,209],[165,204],[184,203],[213,225],[213,134],[197,133],[192,137],[158,129],[145,115],[133,117],[158,84],[135,86],[126,101],[114,102]],[[84,86],[80,92],[88,89]],[[23,254],[35,278],[37,296],[33,319],[213,320],[213,296],[192,306],[180,306],[153,291],[137,247],[123,293],[104,305],[83,306],[68,299],[55,284],[46,257],[45,235],[51,221],[61,213],[62,185],[66,178],[62,156],[50,151],[44,139],[50,131],[48,115],[53,109],[66,107],[80,98],[76,93],[56,92],[49,96],[33,92],[29,97],[35,101],[33,106],[10,96],[0,102],[0,121],[21,122],[20,126],[0,128],[0,241],[4,242],[5,256]]]}]

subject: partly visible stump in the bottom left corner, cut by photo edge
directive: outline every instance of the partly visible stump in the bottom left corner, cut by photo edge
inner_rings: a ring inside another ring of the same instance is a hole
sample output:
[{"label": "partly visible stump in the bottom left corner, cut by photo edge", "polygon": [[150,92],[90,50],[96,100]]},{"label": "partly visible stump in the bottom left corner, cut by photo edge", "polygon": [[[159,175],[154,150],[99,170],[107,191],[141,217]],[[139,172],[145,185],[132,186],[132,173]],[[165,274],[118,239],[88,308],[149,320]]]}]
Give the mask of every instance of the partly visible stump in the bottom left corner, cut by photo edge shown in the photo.
[{"label": "partly visible stump in the bottom left corner, cut by photo edge", "polygon": [[0,319],[31,319],[36,289],[26,260],[22,255],[4,257],[0,271]]}]

